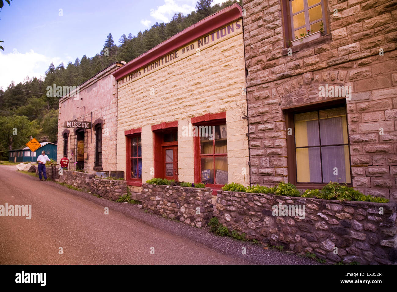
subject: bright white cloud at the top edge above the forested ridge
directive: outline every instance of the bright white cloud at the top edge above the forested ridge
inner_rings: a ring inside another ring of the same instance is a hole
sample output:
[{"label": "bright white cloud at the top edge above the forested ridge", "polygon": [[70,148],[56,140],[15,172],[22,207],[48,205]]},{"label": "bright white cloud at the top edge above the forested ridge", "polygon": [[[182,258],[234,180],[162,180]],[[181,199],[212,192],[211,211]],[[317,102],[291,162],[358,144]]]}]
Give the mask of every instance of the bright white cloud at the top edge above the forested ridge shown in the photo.
[{"label": "bright white cloud at the top edge above the forested ridge", "polygon": [[[161,22],[169,22],[175,13],[181,12],[186,15],[196,10],[195,4],[181,4],[180,2],[178,0],[164,0],[164,5],[157,6],[157,9],[150,9],[150,16]],[[189,1],[189,3],[191,2]]]}]

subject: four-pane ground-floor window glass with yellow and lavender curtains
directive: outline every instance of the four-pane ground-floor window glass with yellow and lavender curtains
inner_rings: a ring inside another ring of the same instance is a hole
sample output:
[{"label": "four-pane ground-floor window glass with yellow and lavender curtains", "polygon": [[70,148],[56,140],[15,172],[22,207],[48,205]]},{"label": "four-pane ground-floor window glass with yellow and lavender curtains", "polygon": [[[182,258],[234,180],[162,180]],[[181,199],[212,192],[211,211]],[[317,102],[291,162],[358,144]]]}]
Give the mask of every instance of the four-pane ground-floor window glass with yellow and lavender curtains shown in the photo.
[{"label": "four-pane ground-floor window glass with yellow and lavender curtains", "polygon": [[294,115],[297,182],[351,183],[345,107]]}]

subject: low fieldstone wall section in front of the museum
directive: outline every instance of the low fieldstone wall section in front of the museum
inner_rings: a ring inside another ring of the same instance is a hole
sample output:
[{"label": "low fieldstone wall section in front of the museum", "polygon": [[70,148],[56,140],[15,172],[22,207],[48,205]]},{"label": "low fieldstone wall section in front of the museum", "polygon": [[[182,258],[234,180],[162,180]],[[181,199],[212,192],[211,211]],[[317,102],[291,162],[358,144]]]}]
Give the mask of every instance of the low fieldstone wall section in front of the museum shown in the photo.
[{"label": "low fieldstone wall section in front of the museum", "polygon": [[113,201],[116,201],[122,195],[127,194],[127,183],[125,180],[106,180],[103,178],[95,178],[95,174],[63,170],[58,181],[84,191],[91,191],[93,194]]}]

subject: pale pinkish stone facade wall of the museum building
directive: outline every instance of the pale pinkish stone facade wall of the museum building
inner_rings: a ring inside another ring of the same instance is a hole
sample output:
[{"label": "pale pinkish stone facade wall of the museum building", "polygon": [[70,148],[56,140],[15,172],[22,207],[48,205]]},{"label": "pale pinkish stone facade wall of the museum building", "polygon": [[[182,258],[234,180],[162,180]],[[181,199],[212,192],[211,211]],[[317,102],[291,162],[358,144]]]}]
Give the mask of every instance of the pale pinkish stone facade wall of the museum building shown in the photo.
[{"label": "pale pinkish stone facade wall of the museum building", "polygon": [[[104,171],[117,170],[117,82],[113,75],[111,75],[117,68],[119,66],[114,64],[83,83],[80,86],[78,100],[74,100],[73,97],[63,97],[60,99],[58,116],[58,163],[64,154],[64,138],[62,136],[63,131],[66,129],[64,128],[64,122],[67,120],[85,120],[91,122],[92,112],[92,122],[95,122],[98,118],[104,121],[102,124],[102,169]],[[67,145],[67,154],[69,156],[70,147],[73,149],[76,146],[71,145],[70,139],[74,129],[67,129],[70,131]],[[87,136],[86,141],[88,141],[87,170],[89,173],[95,173],[96,170],[93,169],[95,160],[94,128],[87,129],[85,135]],[[70,161],[71,157],[68,158]],[[76,161],[75,157],[74,161]],[[69,164],[69,169],[75,169],[73,167]]]}]

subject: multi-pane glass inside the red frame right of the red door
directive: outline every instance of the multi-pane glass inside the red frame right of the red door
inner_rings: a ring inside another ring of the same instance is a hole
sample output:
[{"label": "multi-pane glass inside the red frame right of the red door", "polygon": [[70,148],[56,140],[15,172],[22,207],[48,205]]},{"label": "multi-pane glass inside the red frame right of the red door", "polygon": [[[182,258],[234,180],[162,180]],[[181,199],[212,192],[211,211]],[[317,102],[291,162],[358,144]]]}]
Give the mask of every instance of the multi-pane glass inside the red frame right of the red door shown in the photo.
[{"label": "multi-pane glass inside the red frame right of the red door", "polygon": [[226,124],[207,127],[200,133],[200,172],[204,184],[228,183],[227,179],[227,127]]}]

